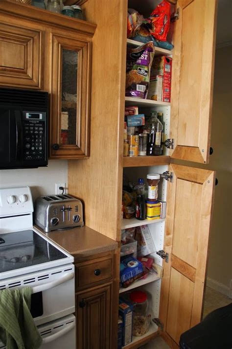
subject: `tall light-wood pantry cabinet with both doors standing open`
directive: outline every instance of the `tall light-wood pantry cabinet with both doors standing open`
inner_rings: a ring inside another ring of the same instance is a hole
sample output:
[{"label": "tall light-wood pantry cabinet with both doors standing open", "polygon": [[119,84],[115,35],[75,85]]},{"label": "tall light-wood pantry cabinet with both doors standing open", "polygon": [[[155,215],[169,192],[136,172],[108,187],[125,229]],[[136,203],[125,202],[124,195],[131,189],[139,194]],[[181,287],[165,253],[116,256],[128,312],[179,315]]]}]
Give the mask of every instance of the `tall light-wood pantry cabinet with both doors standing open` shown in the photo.
[{"label": "tall light-wood pantry cabinet with both doors standing open", "polygon": [[[127,226],[121,220],[123,172],[132,180],[148,171],[172,174],[172,181],[162,183],[165,221],[149,225],[157,249],[168,254],[163,261],[155,257],[164,268],[163,278],[144,285],[161,324],[134,339],[128,349],[138,348],[158,333],[178,348],[181,333],[201,320],[215,182],[213,171],[179,165],[178,160],[209,162],[216,0],[171,0],[179,13],[172,25],[174,49],[169,53],[173,58],[171,105],[125,98],[127,5],[149,15],[159,2],[88,0],[83,4],[88,20],[97,24],[91,148],[90,159],[69,162],[69,191],[84,200],[87,226],[120,242],[121,229]],[[165,134],[174,139],[174,149],[161,157],[123,158],[125,104],[139,105],[140,112],[162,110]],[[114,349],[117,299],[111,317],[110,348]]]}]

